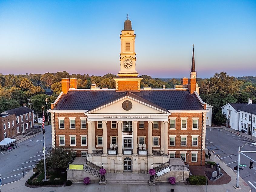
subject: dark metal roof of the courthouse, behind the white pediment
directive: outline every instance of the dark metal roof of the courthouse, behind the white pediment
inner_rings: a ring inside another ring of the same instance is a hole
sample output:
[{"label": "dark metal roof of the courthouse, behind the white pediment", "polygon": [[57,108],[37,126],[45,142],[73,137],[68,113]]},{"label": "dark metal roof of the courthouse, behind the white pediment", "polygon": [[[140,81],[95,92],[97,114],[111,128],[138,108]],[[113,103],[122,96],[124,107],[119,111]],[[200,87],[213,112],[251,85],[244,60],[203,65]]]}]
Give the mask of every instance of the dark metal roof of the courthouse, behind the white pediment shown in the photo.
[{"label": "dark metal roof of the courthouse, behind the white pediment", "polygon": [[147,90],[132,93],[115,90],[71,90],[62,96],[54,110],[92,110],[125,95],[165,110],[204,110],[195,94],[180,90]]}]

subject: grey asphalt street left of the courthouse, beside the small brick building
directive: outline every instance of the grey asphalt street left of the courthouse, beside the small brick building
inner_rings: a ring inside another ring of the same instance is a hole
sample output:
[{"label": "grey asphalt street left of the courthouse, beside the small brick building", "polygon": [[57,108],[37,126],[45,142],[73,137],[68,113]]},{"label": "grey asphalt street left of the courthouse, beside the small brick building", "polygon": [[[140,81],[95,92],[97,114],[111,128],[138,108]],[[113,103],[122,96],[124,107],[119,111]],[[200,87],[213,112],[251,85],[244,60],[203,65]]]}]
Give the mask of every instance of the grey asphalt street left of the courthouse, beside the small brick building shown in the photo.
[{"label": "grey asphalt street left of the courthouse, beside the small brick building", "polygon": [[[52,146],[51,125],[45,126],[45,150]],[[24,175],[28,173],[43,155],[43,134],[35,135],[18,144],[18,147],[11,152],[0,153],[0,174],[2,185],[17,181],[23,177],[22,166],[24,166]],[[47,154],[48,151],[46,151]]]}]

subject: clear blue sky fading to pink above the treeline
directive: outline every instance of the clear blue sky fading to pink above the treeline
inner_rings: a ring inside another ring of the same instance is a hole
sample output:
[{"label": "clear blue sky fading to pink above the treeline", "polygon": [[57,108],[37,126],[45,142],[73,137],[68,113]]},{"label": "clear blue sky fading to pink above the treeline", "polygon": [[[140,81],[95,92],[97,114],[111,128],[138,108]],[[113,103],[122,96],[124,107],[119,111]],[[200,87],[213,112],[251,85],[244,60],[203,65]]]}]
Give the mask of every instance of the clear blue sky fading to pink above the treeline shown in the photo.
[{"label": "clear blue sky fading to pink above the treeline", "polygon": [[256,76],[255,0],[1,0],[0,73],[117,74],[127,13],[140,75]]}]

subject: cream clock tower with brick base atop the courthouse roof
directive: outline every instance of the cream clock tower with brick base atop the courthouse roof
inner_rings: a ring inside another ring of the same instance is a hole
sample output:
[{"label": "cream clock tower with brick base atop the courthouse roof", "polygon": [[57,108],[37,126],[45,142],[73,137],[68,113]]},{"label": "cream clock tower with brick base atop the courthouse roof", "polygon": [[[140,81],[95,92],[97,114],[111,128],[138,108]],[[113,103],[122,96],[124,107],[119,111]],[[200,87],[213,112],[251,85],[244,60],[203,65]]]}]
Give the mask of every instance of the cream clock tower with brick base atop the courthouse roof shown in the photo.
[{"label": "cream clock tower with brick base atop the courthouse roof", "polygon": [[114,78],[116,82],[116,91],[140,91],[140,81],[135,70],[136,53],[135,53],[134,30],[131,28],[131,21],[125,20],[124,29],[121,31],[121,53],[120,53],[120,71],[118,77]]}]

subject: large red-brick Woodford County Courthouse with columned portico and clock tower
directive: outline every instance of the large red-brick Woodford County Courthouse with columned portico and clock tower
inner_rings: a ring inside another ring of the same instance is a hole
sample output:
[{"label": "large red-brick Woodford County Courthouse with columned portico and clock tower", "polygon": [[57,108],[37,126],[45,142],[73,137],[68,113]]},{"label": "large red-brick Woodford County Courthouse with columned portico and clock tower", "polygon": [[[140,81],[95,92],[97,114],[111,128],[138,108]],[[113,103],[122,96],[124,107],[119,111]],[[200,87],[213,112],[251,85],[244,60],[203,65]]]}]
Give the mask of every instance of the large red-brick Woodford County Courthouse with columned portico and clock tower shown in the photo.
[{"label": "large red-brick Woodford County Courthouse with columned portico and clock tower", "polygon": [[120,38],[115,89],[77,89],[75,78],[62,79],[62,92],[49,110],[53,147],[71,148],[114,173],[147,172],[177,157],[204,165],[207,110],[198,95],[194,48],[190,78],[182,78],[182,85],[141,88],[130,20]]}]

